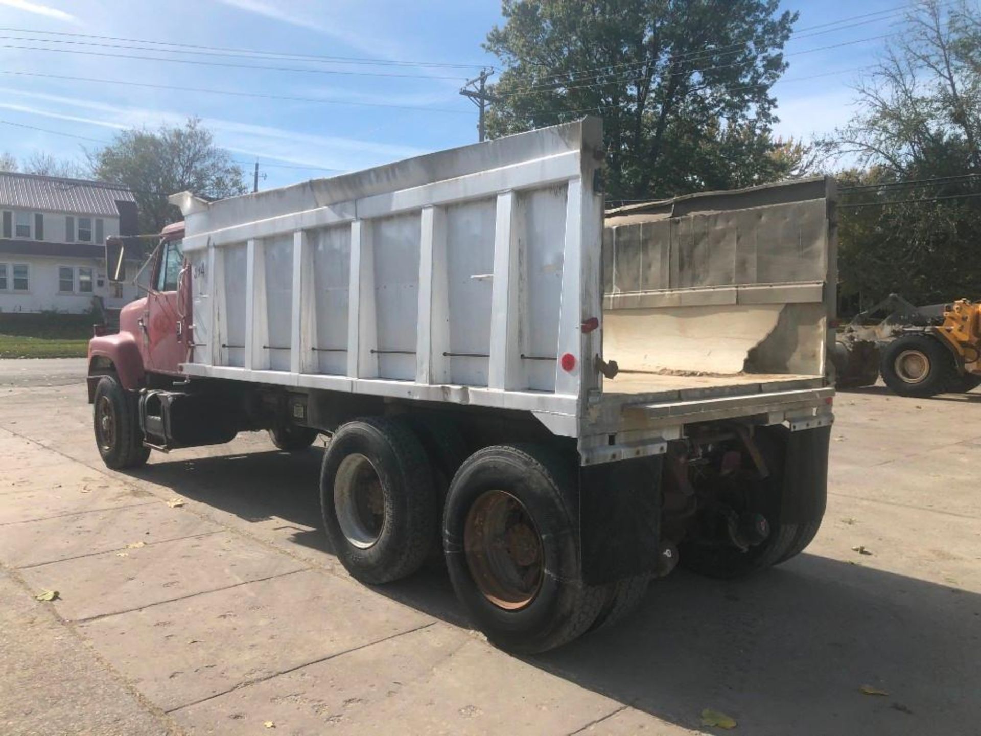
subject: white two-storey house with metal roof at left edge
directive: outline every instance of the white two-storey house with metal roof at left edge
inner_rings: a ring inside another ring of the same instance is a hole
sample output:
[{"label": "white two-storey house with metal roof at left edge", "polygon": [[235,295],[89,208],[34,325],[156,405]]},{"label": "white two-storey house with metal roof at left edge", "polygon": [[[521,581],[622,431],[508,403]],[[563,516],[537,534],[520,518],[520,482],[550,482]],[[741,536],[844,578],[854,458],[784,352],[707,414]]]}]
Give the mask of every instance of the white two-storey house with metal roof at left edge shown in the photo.
[{"label": "white two-storey house with metal roof at left edge", "polygon": [[137,292],[108,282],[104,244],[136,232],[124,187],[0,172],[0,312],[118,309]]}]

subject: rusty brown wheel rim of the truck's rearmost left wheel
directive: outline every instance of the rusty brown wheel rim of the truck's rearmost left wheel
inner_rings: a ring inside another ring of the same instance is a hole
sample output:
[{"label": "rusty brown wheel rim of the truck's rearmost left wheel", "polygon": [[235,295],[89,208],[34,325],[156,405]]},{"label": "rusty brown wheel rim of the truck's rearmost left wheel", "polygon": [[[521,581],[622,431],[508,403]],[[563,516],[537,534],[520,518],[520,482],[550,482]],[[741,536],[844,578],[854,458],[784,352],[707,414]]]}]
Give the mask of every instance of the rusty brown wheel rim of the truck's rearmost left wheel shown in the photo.
[{"label": "rusty brown wheel rim of the truck's rearmost left wheel", "polygon": [[505,610],[530,605],[544,579],[544,549],[528,509],[506,491],[487,491],[463,530],[467,566],[481,594]]}]

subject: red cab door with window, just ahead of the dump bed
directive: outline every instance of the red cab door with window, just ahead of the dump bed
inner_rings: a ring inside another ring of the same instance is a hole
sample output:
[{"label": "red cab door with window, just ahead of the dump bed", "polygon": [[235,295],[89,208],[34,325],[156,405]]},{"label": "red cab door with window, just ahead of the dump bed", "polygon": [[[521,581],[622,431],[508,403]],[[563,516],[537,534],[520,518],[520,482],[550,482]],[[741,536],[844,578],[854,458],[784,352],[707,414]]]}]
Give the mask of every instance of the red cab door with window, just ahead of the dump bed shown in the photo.
[{"label": "red cab door with window, just ahead of the dump bed", "polygon": [[181,240],[167,240],[161,245],[154,283],[146,298],[143,331],[149,369],[158,373],[180,373],[187,360],[186,305],[181,293],[187,294]]}]

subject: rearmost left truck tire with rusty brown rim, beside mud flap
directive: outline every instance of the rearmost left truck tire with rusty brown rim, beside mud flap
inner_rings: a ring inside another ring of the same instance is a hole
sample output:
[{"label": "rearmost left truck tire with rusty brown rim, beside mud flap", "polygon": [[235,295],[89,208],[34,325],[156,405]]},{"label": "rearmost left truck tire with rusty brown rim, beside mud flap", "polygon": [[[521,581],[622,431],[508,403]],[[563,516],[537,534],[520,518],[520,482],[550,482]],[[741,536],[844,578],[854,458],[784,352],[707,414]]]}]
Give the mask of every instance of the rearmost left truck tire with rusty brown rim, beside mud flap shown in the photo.
[{"label": "rearmost left truck tire with rusty brown rim, beside mud flap", "polygon": [[457,471],[443,550],[457,599],[492,644],[517,654],[585,633],[608,587],[583,583],[575,465],[547,447],[485,447]]}]

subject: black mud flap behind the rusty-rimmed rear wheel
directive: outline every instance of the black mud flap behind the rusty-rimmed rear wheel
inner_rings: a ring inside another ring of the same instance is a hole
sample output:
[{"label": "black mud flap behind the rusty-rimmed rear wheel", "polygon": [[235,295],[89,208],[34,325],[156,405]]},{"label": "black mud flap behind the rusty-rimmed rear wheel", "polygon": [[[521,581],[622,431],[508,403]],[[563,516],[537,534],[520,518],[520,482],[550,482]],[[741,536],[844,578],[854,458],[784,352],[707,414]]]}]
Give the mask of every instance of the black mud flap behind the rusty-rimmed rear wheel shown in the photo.
[{"label": "black mud flap behind the rusty-rimmed rear wheel", "polygon": [[580,550],[587,584],[653,572],[663,459],[641,457],[579,469]]}]

